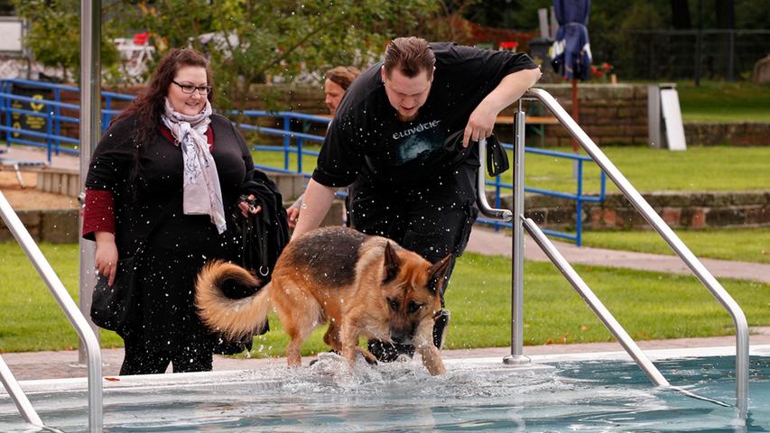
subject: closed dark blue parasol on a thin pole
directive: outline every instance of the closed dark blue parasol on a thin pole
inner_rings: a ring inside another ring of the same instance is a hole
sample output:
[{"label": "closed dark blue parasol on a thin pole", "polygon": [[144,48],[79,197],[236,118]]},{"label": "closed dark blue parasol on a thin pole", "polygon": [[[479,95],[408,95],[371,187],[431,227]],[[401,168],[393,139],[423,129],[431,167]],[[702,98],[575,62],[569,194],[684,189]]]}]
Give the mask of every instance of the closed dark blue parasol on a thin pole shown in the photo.
[{"label": "closed dark blue parasol on a thin pole", "polygon": [[[589,44],[590,0],[553,0],[553,11],[559,31],[553,42],[551,65],[561,76],[572,81],[572,117],[578,121],[577,80],[589,78],[591,48]],[[578,150],[578,143],[572,147]]]}]

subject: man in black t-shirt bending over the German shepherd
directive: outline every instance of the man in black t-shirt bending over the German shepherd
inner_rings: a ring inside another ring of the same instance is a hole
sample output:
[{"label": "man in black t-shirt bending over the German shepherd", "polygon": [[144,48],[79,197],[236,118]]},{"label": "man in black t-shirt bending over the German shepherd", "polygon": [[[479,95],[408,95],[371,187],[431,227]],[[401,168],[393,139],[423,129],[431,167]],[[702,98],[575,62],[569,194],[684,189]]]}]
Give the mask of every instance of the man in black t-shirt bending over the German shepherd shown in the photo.
[{"label": "man in black t-shirt bending over the German shepherd", "polygon": [[[435,263],[465,249],[476,220],[473,142],[540,78],[526,54],[398,38],[342,99],[305,191],[293,237],[320,225],[335,190],[349,194],[354,228],[383,235]],[[454,263],[452,263],[453,265]],[[438,318],[434,341],[441,347]],[[369,343],[392,360],[409,346]]]}]

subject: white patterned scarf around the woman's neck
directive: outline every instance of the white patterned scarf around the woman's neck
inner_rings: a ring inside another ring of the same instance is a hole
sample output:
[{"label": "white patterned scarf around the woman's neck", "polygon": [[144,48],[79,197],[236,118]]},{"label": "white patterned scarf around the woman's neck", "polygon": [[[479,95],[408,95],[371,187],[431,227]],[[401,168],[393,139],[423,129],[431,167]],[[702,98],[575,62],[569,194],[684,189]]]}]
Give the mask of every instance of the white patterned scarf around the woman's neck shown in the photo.
[{"label": "white patterned scarf around the woman's neck", "polygon": [[211,119],[211,104],[198,115],[182,115],[173,110],[166,98],[165,112],[161,115],[174,137],[174,144],[181,146],[184,161],[184,199],[185,215],[209,215],[211,223],[217,226],[221,235],[227,228],[225,207],[222,204],[222,189],[219,187],[217,164],[209,152],[206,131]]}]

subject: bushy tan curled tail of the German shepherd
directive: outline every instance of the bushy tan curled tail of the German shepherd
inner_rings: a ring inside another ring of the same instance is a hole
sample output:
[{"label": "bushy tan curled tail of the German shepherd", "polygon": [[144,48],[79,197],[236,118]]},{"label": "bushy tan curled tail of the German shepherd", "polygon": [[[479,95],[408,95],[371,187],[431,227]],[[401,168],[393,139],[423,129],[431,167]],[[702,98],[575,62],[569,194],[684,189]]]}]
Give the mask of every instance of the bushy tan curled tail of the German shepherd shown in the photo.
[{"label": "bushy tan curled tail of the German shepherd", "polygon": [[251,273],[237,264],[214,261],[203,266],[195,283],[195,306],[199,316],[210,329],[222,332],[231,339],[252,333],[259,334],[270,311],[270,284],[252,296],[230,299],[222,288],[226,282],[247,287],[259,287]]}]

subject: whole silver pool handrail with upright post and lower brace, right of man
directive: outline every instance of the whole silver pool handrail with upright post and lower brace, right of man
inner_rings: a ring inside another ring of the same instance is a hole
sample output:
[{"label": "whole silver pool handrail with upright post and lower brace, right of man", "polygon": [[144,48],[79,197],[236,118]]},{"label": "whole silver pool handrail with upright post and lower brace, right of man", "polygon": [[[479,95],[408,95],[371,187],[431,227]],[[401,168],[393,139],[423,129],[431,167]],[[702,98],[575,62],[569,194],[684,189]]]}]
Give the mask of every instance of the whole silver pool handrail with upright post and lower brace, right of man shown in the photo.
[{"label": "whole silver pool handrail with upright post and lower brace, right of man", "polygon": [[[617,188],[628,198],[643,217],[650,223],[658,234],[668,243],[682,261],[687,264],[700,282],[706,286],[711,294],[719,301],[729,315],[733,318],[736,327],[736,407],[738,408],[741,419],[747,418],[748,410],[748,325],[746,316],[738,306],[735,299],[729,295],[713,275],[703,266],[690,249],[682,243],[682,240],[673,233],[671,227],[665,224],[654,208],[647,203],[645,198],[626,180],[626,177],[617,170],[615,165],[609,161],[608,157],[599,150],[588,134],[586,134],[580,125],[575,122],[566,110],[556,101],[554,97],[541,88],[531,88],[518,101],[518,107],[515,112],[515,147],[514,147],[514,206],[513,212],[508,209],[495,209],[489,206],[485,188],[487,184],[485,170],[478,170],[478,205],[481,213],[486,217],[496,218],[511,222],[513,225],[513,271],[512,284],[513,292],[511,295],[511,355],[504,358],[503,362],[508,365],[528,365],[530,360],[524,356],[523,334],[524,334],[524,230],[531,235],[543,252],[556,265],[562,275],[570,281],[572,287],[578,291],[598,318],[608,328],[609,332],[617,338],[620,345],[626,349],[628,355],[635,360],[636,364],[645,372],[650,381],[655,386],[671,387],[663,374],[642,352],[626,330],[613,318],[609,310],[602,304],[598,297],[590,290],[589,286],[580,278],[578,272],[575,272],[571,264],[552,242],[543,234],[543,231],[532,218],[524,217],[524,124],[526,115],[522,109],[524,100],[537,100],[543,103],[552,114],[559,120],[572,137],[580,143],[590,157],[598,164],[601,170],[607,173],[609,179],[615,182]],[[486,161],[486,142],[482,141],[479,146],[479,161]],[[578,218],[582,216],[577,216]],[[680,389],[680,391],[682,391]]]}]

